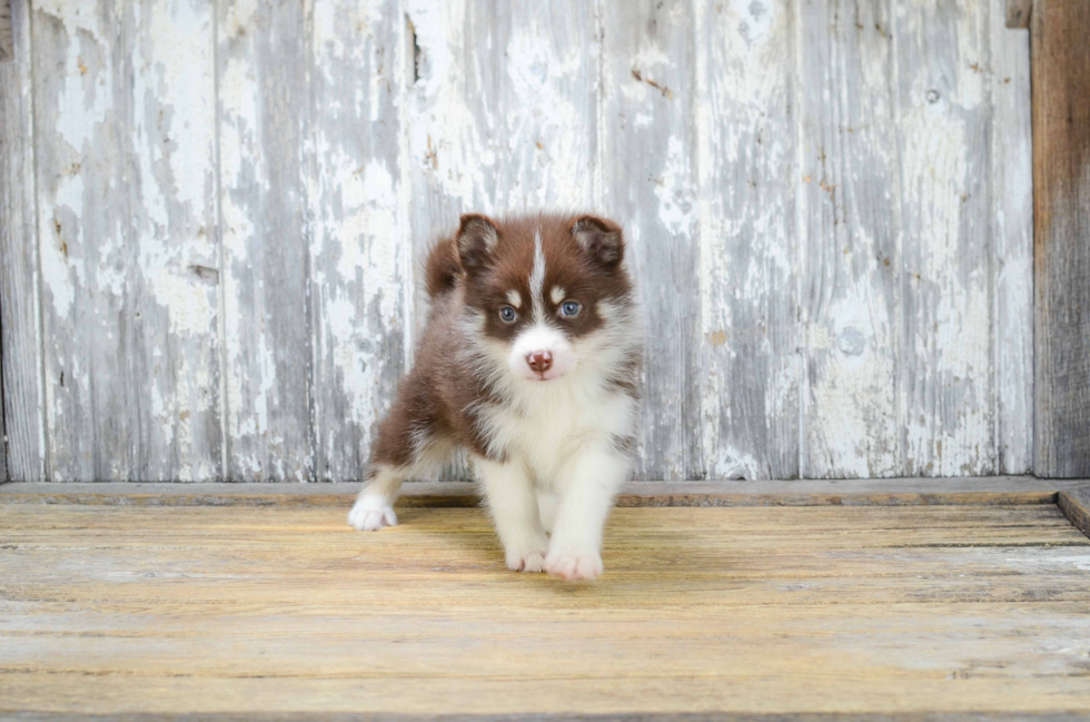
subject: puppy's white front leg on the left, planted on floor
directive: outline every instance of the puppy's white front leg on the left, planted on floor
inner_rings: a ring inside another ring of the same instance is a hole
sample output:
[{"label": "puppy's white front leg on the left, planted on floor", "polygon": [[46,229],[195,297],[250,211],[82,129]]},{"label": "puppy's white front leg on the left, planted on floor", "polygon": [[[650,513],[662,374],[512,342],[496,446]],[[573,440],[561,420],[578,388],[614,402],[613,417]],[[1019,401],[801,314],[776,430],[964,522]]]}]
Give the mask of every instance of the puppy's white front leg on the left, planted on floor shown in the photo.
[{"label": "puppy's white front leg on the left, planted on floor", "polygon": [[507,567],[516,572],[544,571],[548,537],[526,468],[521,462],[502,464],[482,457],[474,458],[474,468],[504,545]]}]

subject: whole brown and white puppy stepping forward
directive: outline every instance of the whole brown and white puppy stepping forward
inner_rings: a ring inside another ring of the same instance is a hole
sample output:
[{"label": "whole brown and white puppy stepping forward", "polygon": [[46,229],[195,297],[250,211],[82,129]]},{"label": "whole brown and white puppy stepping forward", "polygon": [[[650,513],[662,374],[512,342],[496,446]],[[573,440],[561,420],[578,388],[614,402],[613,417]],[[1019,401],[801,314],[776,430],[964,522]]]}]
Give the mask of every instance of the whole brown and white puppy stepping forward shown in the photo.
[{"label": "whole brown and white puppy stepping forward", "polygon": [[602,574],[602,530],[632,468],[643,352],[623,261],[621,228],[594,216],[463,216],[428,257],[427,327],[349,523],[396,524],[402,482],[464,447],[507,566]]}]

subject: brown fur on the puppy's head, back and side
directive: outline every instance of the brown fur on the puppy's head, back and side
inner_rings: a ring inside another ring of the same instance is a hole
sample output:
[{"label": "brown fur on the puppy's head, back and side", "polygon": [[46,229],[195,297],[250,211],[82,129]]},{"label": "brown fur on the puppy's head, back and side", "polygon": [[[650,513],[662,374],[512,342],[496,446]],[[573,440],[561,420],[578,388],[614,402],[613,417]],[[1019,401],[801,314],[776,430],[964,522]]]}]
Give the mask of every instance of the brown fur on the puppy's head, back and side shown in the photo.
[{"label": "brown fur on the puppy's head, back and side", "polygon": [[[487,378],[467,368],[465,322],[483,318],[480,333],[494,339],[513,338],[531,323],[528,269],[534,263],[534,236],[541,233],[546,259],[545,310],[552,323],[572,338],[591,334],[605,319],[598,305],[630,303],[632,286],[622,267],[624,241],[616,224],[592,216],[532,216],[495,221],[464,216],[459,231],[439,241],[428,255],[425,278],[432,298],[427,327],[416,353],[416,364],[398,387],[397,402],[378,427],[371,464],[410,466],[422,444],[460,445],[480,456],[503,461],[477,427],[473,409],[503,399]],[[583,310],[575,318],[559,316],[549,289],[561,286],[578,299]],[[522,298],[514,323],[505,323],[499,309],[516,289]],[[638,358],[618,369],[608,383],[635,393]],[[618,439],[631,445],[631,439]]]}]

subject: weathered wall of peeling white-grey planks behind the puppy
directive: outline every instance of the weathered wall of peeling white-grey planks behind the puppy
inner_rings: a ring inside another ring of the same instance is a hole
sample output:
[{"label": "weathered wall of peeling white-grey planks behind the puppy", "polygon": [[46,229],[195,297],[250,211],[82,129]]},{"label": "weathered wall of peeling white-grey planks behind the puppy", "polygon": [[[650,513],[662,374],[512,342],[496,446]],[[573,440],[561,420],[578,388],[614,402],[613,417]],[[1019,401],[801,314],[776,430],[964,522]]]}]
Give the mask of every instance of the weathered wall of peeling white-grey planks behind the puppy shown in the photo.
[{"label": "weathered wall of peeling white-grey planks behind the puppy", "polygon": [[12,478],[357,478],[427,246],[556,207],[628,235],[640,476],[1031,468],[1002,0],[31,4],[0,69]]}]

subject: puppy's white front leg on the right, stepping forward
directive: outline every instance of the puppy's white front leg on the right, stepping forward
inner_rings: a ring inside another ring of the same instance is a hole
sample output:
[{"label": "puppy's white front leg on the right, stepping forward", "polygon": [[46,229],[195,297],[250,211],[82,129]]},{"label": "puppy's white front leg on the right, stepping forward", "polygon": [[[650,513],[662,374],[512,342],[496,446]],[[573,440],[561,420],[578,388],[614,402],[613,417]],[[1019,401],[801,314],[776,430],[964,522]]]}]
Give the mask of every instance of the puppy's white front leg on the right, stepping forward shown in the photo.
[{"label": "puppy's white front leg on the right, stepping forward", "polygon": [[545,557],[545,571],[569,582],[602,574],[602,530],[630,462],[613,449],[588,445],[572,461]]}]

